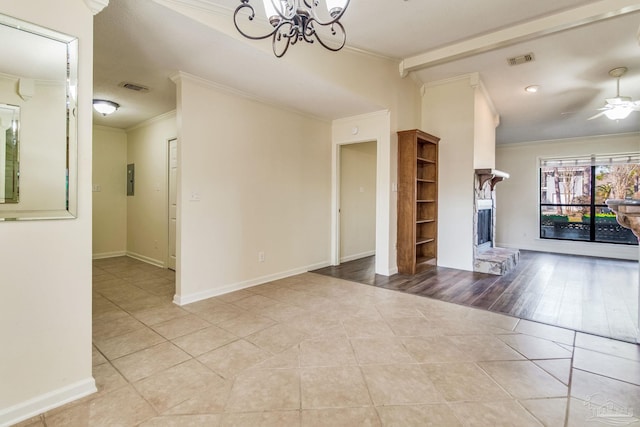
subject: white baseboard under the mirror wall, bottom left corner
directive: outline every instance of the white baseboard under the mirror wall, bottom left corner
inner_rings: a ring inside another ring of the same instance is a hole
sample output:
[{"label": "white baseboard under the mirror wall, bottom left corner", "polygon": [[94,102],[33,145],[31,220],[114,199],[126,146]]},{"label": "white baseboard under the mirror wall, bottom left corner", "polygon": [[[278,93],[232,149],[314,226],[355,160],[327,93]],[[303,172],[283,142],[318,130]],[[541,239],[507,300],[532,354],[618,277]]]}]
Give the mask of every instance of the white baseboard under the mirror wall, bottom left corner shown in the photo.
[{"label": "white baseboard under the mirror wall, bottom left corner", "polygon": [[53,408],[65,405],[74,400],[98,391],[93,377],[78,381],[66,387],[36,396],[25,402],[0,409],[0,427],[10,426],[24,421]]}]

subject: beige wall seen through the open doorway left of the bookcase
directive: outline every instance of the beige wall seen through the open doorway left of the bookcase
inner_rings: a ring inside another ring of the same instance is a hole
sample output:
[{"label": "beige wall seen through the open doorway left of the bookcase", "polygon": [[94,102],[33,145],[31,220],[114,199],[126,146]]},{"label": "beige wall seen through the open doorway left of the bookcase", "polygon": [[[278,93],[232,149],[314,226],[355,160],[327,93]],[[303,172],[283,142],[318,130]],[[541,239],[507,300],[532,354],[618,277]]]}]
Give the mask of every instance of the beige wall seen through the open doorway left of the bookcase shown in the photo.
[{"label": "beige wall seen through the open doorway left of the bookcase", "polygon": [[375,253],[376,142],[340,146],[340,261]]}]

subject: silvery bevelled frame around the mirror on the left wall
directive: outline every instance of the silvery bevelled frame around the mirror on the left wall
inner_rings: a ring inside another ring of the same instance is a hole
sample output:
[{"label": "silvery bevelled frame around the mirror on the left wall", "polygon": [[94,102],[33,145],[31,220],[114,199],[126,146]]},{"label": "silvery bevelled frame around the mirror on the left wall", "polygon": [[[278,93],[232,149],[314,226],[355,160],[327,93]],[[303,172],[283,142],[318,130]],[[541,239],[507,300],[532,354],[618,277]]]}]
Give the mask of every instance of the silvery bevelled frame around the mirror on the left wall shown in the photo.
[{"label": "silvery bevelled frame around the mirror on the left wall", "polygon": [[[66,208],[20,209],[19,203],[11,204],[14,209],[0,210],[0,221],[74,219],[78,207],[78,120],[77,120],[77,88],[78,88],[78,38],[54,31],[40,25],[22,21],[11,16],[0,14],[0,25],[13,28],[15,31],[31,33],[66,45],[67,72],[65,87],[66,102]],[[22,143],[22,142],[21,142]],[[2,206],[2,205],[0,205]]]}]

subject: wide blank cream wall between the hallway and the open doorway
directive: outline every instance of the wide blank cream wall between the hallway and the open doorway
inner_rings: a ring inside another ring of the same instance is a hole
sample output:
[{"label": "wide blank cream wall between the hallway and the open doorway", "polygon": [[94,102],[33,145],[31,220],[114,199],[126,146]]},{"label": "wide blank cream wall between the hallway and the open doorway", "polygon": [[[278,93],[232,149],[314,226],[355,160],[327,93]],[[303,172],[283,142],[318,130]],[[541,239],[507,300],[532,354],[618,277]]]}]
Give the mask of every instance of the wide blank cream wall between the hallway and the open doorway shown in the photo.
[{"label": "wide blank cream wall between the hallway and the open doorway", "polygon": [[[181,74],[176,81],[175,301],[327,265],[330,124],[192,76]],[[265,262],[258,262],[259,252]]]}]

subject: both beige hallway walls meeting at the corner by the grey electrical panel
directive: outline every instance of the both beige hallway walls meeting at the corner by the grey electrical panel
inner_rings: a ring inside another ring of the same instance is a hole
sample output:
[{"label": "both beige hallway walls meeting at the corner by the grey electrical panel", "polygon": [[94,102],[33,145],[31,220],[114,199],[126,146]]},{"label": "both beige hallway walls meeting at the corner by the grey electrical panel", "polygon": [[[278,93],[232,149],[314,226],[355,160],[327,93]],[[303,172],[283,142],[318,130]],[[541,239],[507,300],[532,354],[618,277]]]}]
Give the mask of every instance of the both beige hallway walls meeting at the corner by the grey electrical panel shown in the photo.
[{"label": "both beige hallway walls meeting at the corner by the grey electrical panel", "polygon": [[[168,141],[175,111],[133,128],[93,129],[93,257],[129,255],[164,267],[168,253]],[[127,196],[127,164],[135,192]]]}]

